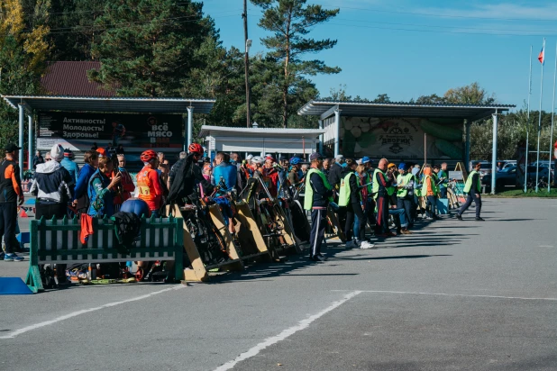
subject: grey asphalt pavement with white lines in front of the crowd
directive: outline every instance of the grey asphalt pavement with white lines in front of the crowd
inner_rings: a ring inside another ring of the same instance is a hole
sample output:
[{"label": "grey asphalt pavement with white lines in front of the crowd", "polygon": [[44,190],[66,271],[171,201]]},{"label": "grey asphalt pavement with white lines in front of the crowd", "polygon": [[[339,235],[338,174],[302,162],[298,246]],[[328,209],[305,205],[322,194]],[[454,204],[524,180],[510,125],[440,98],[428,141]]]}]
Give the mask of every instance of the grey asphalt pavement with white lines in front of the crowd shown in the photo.
[{"label": "grey asphalt pavement with white lines in front of the crowd", "polygon": [[557,200],[482,216],[209,284],[0,296],[0,370],[555,370]]}]

